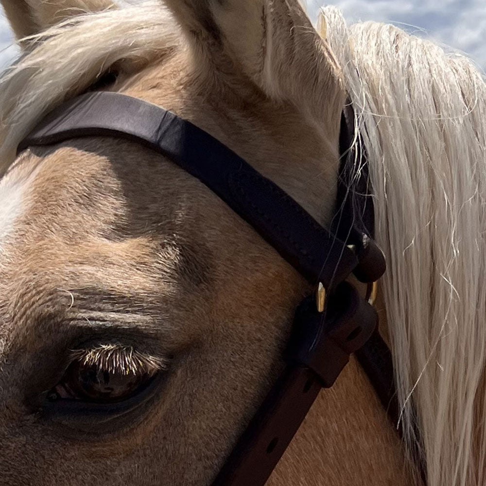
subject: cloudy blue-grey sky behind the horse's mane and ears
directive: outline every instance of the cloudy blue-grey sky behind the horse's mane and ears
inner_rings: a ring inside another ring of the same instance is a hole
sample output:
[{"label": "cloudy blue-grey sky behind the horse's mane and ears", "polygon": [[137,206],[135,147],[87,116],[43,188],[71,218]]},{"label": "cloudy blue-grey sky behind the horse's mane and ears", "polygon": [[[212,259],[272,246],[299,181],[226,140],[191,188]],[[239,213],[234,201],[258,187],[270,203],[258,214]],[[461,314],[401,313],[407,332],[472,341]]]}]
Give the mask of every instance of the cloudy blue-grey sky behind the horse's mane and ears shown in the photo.
[{"label": "cloudy blue-grey sky behind the horse's mane and ears", "polygon": [[[313,19],[323,1],[307,0]],[[334,4],[349,21],[395,23],[467,53],[486,70],[485,0],[336,0]],[[0,9],[0,68],[16,54],[12,44],[12,34]]]}]

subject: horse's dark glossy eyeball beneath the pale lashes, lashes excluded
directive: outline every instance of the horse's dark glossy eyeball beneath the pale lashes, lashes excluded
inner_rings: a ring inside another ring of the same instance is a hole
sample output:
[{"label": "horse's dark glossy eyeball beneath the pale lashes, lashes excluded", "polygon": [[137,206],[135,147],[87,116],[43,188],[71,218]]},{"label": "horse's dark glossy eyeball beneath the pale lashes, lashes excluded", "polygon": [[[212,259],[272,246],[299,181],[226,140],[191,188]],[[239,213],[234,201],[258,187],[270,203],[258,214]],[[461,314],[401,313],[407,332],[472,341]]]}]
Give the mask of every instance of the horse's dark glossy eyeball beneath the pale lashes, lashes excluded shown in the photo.
[{"label": "horse's dark glossy eyeball beneath the pale lashes, lashes excluded", "polygon": [[132,373],[115,367],[74,362],[62,381],[48,394],[50,401],[74,399],[92,403],[112,403],[135,395],[152,378],[149,373]]}]

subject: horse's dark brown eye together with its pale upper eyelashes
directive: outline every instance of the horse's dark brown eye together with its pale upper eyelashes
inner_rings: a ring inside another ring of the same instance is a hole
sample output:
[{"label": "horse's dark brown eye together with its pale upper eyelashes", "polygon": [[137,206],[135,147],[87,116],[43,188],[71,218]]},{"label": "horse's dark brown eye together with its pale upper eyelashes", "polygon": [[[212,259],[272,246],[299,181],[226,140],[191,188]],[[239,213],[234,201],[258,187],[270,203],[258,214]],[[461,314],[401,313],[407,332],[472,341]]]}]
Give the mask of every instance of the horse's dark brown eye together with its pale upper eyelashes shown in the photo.
[{"label": "horse's dark brown eye together with its pale upper eyelashes", "polygon": [[50,401],[119,402],[136,395],[156,372],[165,369],[162,360],[130,347],[102,346],[74,353],[79,358],[71,362],[62,380],[49,392]]}]

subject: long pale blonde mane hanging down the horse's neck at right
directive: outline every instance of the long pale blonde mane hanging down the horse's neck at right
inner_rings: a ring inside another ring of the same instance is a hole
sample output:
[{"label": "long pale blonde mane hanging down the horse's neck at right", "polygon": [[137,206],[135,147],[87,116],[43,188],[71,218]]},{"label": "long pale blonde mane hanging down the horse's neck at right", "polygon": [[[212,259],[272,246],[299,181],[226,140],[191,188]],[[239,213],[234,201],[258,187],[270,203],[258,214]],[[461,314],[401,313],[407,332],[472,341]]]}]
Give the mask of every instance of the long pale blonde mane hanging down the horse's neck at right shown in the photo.
[{"label": "long pale blonde mane hanging down the horse's neck at right", "polygon": [[406,441],[417,420],[428,486],[485,484],[485,81],[394,26],[333,7],[326,24],[369,157]]}]

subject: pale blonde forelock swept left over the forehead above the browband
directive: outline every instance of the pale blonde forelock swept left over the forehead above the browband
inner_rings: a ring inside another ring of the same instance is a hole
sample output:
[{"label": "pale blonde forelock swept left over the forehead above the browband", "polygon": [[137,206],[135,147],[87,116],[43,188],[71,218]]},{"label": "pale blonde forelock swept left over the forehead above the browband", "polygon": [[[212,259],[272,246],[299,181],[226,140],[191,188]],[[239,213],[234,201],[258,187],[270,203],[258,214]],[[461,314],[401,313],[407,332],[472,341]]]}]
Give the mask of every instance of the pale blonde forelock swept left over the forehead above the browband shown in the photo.
[{"label": "pale blonde forelock swept left over the forehead above the browband", "polygon": [[73,17],[26,38],[32,48],[0,77],[0,174],[46,112],[113,65],[140,69],[180,38],[172,15],[154,1]]}]

